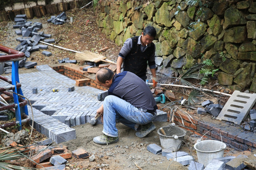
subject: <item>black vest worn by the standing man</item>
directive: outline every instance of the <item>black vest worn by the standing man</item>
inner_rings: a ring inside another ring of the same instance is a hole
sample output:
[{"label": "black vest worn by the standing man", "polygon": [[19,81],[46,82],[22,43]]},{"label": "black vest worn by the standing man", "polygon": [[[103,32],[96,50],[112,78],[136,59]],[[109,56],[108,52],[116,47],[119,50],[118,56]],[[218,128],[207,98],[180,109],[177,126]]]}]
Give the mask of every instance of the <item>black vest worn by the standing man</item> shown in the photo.
[{"label": "black vest worn by the standing man", "polygon": [[146,76],[147,61],[154,52],[155,44],[151,42],[146,51],[140,50],[141,44],[138,44],[138,37],[132,37],[132,49],[124,59],[124,71],[130,71],[139,77]]}]

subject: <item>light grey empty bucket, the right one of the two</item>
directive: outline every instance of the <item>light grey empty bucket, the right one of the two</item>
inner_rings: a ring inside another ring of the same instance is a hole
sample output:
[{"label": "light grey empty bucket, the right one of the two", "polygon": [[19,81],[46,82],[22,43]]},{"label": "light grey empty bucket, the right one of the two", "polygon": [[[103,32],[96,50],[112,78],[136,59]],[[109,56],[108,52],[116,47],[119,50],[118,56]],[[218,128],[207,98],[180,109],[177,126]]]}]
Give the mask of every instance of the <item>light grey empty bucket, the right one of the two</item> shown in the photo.
[{"label": "light grey empty bucket, the right one of the two", "polygon": [[222,158],[226,144],[216,140],[205,140],[194,144],[198,162],[204,167],[214,158]]}]

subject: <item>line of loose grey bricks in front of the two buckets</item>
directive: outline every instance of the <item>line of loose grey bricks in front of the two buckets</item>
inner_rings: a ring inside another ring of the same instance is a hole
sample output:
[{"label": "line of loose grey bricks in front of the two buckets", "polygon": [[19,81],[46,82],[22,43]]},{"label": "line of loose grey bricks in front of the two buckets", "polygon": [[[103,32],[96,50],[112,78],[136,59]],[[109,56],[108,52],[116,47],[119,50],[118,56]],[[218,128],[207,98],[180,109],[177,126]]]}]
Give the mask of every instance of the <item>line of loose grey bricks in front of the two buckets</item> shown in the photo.
[{"label": "line of loose grey bricks in front of the two buckets", "polygon": [[[157,144],[149,144],[147,150],[154,154],[162,153],[167,160],[177,161],[183,166],[189,166],[188,170],[243,170],[246,167],[244,161],[249,160],[247,155],[240,154],[236,156],[226,156],[211,160],[206,167],[202,163],[194,161],[194,158],[189,153],[178,151],[173,152],[173,149],[162,149]],[[250,155],[251,152],[248,152]],[[236,163],[234,163],[236,162]]]}]

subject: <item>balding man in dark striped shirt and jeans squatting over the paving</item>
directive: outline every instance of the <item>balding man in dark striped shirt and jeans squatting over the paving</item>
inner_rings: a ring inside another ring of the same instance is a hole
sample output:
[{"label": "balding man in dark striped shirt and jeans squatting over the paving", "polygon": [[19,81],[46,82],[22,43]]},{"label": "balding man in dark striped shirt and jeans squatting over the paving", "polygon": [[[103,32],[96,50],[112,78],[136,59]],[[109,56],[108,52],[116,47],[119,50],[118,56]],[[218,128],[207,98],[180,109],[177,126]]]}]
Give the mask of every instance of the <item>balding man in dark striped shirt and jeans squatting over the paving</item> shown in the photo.
[{"label": "balding man in dark striped shirt and jeans squatting over the paving", "polygon": [[97,110],[103,122],[103,135],[93,138],[96,144],[112,144],[119,141],[116,120],[136,130],[136,136],[145,137],[155,130],[152,123],[157,109],[155,99],[146,83],[129,71],[114,74],[101,68],[96,82],[109,88],[103,105]]}]

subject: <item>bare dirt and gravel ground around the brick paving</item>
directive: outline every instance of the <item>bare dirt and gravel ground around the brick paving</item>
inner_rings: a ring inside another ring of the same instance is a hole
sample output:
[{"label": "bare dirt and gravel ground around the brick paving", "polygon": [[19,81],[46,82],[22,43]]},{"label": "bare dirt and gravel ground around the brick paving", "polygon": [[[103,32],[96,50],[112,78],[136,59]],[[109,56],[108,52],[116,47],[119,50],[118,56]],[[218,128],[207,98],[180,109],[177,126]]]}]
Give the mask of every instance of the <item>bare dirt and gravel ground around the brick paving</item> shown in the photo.
[{"label": "bare dirt and gravel ground around the brick paving", "polygon": [[[43,18],[34,18],[33,20],[28,20],[32,22],[43,23],[43,29],[45,34],[52,34],[51,38],[55,38],[55,45],[76,50],[89,50],[97,52],[98,50],[109,47],[109,50],[102,52],[101,54],[106,56],[107,59],[116,61],[118,53],[121,49],[113,41],[110,41],[104,34],[102,34],[95,22],[95,15],[91,8],[86,8],[84,10],[73,9],[66,12],[67,17],[73,17],[74,22],[72,24],[65,23],[64,25],[53,25],[47,23],[47,19],[50,16]],[[15,48],[19,42],[16,41],[18,35],[15,34],[15,29],[12,28],[13,22],[1,22],[0,23],[0,39],[1,44],[8,46],[10,48]],[[50,66],[62,65],[58,63],[59,59],[64,59],[69,57],[70,59],[75,59],[75,53],[71,51],[64,51],[58,48],[49,46],[48,50],[53,53],[52,56],[46,57],[42,54],[42,50],[35,51],[31,53],[28,61],[36,61],[37,65],[48,64]],[[82,65],[82,63],[78,63]],[[19,73],[27,73],[37,71],[36,68],[20,68]],[[172,79],[167,79],[166,77],[160,78],[159,83],[169,84],[174,81]],[[165,80],[165,81],[164,81]],[[210,85],[213,85],[212,82]],[[173,88],[174,92],[178,90]],[[180,94],[182,96],[183,93]],[[225,102],[227,99],[219,99],[221,102]],[[92,142],[93,137],[102,135],[102,125],[91,126],[91,124],[84,124],[80,126],[73,127],[76,129],[77,138],[64,143],[68,146],[70,151],[73,151],[79,147],[84,148],[91,155],[95,156],[94,161],[89,159],[77,160],[72,158],[66,164],[66,169],[73,170],[185,170],[187,167],[175,161],[168,161],[166,157],[161,154],[154,155],[146,150],[148,144],[158,144],[160,145],[159,135],[157,134],[157,129],[170,124],[169,122],[155,122],[156,130],[152,132],[145,138],[138,138],[135,136],[135,131],[129,129],[128,127],[118,123],[117,128],[119,129],[119,142],[116,144],[110,144],[108,146],[98,145]],[[44,136],[39,136],[35,140],[43,139]],[[184,142],[180,151],[185,151],[193,156],[195,161],[197,161],[197,156],[195,150],[193,149],[193,144],[200,136],[187,132],[184,137]],[[233,149],[227,148],[225,150],[225,155],[230,155],[235,153]],[[137,164],[137,166],[136,166]]]}]

